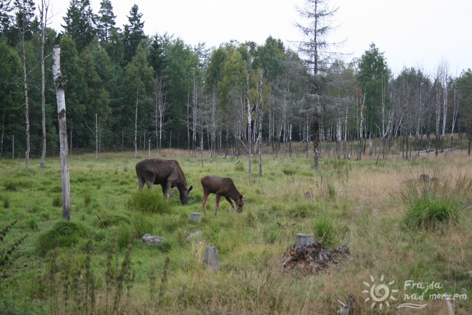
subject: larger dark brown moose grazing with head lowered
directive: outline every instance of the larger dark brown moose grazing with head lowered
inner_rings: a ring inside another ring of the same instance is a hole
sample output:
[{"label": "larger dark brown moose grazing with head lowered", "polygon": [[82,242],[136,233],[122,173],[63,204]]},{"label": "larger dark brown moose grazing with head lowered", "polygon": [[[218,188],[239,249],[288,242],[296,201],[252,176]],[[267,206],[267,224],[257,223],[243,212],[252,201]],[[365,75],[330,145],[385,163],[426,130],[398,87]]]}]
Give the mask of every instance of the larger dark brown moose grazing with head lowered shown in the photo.
[{"label": "larger dark brown moose grazing with head lowered", "polygon": [[151,188],[153,184],[161,185],[164,197],[169,197],[169,191],[177,187],[180,192],[180,201],[188,206],[190,191],[193,186],[187,188],[185,175],[176,160],[164,160],[160,158],[147,158],[136,164],[136,175],[138,177],[139,190],[144,183]]}]

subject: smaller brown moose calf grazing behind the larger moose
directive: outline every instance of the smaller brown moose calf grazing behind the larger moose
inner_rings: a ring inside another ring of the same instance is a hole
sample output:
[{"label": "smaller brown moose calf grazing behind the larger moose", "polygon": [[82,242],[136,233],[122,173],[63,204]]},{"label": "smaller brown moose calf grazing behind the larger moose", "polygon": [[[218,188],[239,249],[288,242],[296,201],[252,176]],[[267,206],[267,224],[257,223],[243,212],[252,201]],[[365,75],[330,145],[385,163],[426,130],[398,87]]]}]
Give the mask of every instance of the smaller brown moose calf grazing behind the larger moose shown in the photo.
[{"label": "smaller brown moose calf grazing behind the larger moose", "polygon": [[201,180],[203,188],[202,207],[203,213],[206,214],[206,199],[210,193],[216,193],[216,207],[215,216],[217,215],[219,208],[219,199],[225,197],[230,203],[231,207],[235,209],[232,199],[236,203],[236,211],[241,213],[244,207],[244,199],[246,196],[239,193],[236,189],[235,183],[229,177],[219,177],[215,175],[207,175]]}]

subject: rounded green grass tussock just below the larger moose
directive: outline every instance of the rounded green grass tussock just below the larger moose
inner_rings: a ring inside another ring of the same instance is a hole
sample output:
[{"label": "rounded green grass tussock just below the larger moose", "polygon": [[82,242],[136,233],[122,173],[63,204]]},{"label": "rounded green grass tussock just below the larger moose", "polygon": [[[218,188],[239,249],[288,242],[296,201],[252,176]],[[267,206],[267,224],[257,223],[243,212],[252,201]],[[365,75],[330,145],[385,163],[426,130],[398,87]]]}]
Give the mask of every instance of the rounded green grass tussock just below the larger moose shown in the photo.
[{"label": "rounded green grass tussock just below the larger moose", "polygon": [[143,189],[131,195],[128,199],[128,208],[142,212],[170,214],[172,202],[154,190]]}]

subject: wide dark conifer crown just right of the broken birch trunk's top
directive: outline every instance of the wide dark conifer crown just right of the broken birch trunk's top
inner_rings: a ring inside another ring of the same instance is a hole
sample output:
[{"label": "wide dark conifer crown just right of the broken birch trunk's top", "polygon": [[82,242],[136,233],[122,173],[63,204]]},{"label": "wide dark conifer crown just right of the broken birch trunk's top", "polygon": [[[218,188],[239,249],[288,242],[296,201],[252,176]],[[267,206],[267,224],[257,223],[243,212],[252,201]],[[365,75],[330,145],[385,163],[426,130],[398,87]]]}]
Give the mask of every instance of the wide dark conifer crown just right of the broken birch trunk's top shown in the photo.
[{"label": "wide dark conifer crown just right of the broken birch trunk's top", "polygon": [[96,35],[96,15],[90,7],[90,0],[70,0],[65,24],[61,24],[64,33],[75,41],[76,48],[81,52],[92,42]]}]

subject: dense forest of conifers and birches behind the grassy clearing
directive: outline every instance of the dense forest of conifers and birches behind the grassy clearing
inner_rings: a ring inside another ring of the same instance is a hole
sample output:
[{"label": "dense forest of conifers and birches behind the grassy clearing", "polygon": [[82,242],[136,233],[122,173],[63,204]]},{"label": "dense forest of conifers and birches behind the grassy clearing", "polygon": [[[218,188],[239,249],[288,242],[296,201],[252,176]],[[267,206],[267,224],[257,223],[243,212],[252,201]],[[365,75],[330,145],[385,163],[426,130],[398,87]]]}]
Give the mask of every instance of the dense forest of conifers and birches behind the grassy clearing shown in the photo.
[{"label": "dense forest of conifers and birches behind the grassy clearing", "polygon": [[69,136],[72,149],[98,152],[107,139],[118,144],[109,150],[126,143],[135,151],[172,146],[239,156],[262,154],[264,143],[286,155],[297,143],[316,166],[323,141],[336,143],[338,158],[410,158],[447,150],[458,134],[470,153],[472,71],[455,77],[442,60],[435,73],[405,67],[393,74],[374,43],[346,62],[327,49],[337,11],[327,0],[297,8],[307,35],[297,51],[272,36],[263,44],[192,47],[168,33],[146,35],[137,5],[120,28],[111,0],[98,13],[89,0],[70,0],[62,32],[48,26],[47,0],[0,0],[0,8],[0,157],[14,147],[26,153],[26,167],[30,154],[41,165],[46,148],[57,154],[54,45],[67,79],[67,130],[83,135]]}]

